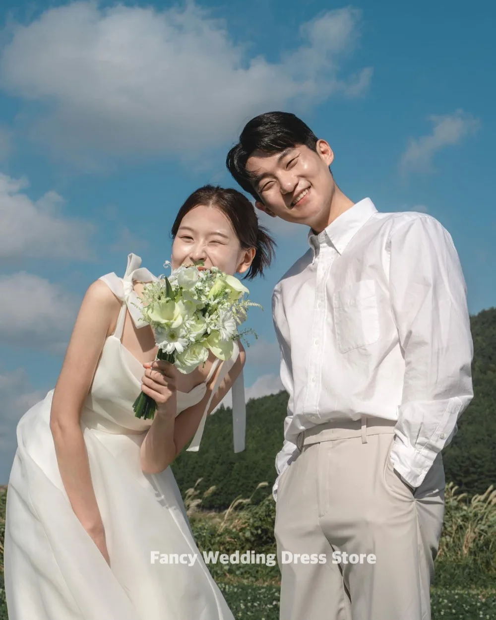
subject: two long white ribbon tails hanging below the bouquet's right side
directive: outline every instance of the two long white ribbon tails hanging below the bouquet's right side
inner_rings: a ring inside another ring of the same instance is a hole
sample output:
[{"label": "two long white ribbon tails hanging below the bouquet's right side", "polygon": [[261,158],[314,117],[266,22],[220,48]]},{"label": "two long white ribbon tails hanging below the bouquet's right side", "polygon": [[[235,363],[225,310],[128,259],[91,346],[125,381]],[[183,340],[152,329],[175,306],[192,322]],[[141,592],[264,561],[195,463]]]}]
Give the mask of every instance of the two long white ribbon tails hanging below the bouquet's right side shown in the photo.
[{"label": "two long white ribbon tails hanging below the bouquet's right side", "polygon": [[[208,415],[208,410],[210,409],[210,403],[213,399],[213,395],[218,390],[221,381],[223,381],[226,374],[228,374],[229,370],[231,370],[232,366],[237,360],[239,356],[239,347],[237,342],[234,342],[234,352],[232,353],[232,357],[229,360],[223,361],[221,365],[221,369],[219,374],[215,379],[215,384],[210,394],[210,398],[206,404],[205,410],[203,411],[203,416],[200,420],[200,425],[198,426],[197,432],[193,437],[192,442],[187,448],[187,452],[198,452],[200,448],[201,437],[203,436],[203,430],[205,428],[206,417]],[[241,378],[241,382],[238,383]],[[233,425],[233,435],[234,435],[234,452],[242,452],[244,450],[245,444],[245,429],[246,429],[246,405],[244,402],[244,379],[243,379],[243,371],[237,377],[234,385],[232,386],[232,425]]]}]

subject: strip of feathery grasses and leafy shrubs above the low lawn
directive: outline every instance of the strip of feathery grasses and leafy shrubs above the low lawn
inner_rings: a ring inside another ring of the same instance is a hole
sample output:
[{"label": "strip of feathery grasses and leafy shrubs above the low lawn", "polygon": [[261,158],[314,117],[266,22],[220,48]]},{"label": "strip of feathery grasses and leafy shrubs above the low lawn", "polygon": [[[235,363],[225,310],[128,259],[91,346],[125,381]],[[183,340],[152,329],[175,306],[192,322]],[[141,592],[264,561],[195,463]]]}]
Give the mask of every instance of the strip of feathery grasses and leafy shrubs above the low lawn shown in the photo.
[{"label": "strip of feathery grasses and leafy shrubs above the low lawn", "polygon": [[[263,484],[263,483],[262,483]],[[237,498],[224,513],[201,510],[208,490],[199,498],[198,484],[188,489],[186,506],[193,534],[200,551],[218,549],[232,554],[236,549],[253,549],[257,553],[275,554],[273,536],[275,502],[272,496],[254,503]],[[483,495],[468,498],[453,483],[445,489],[445,520],[436,557],[436,585],[445,587],[487,586],[496,583],[496,490],[489,487]],[[228,582],[278,583],[278,566],[262,564],[215,564],[209,569],[213,577]]]}]

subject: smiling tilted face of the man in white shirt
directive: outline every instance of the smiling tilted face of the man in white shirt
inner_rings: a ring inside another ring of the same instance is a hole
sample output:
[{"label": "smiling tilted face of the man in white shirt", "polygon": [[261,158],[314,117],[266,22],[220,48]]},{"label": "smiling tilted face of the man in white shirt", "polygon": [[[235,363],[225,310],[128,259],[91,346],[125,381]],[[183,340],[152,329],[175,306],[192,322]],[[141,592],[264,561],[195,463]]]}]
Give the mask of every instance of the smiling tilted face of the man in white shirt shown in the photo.
[{"label": "smiling tilted face of the man in white shirt", "polygon": [[246,168],[257,177],[254,188],[260,201],[255,205],[269,215],[322,231],[334,195],[329,170],[333,159],[325,140],[317,142],[317,153],[301,144],[274,155],[254,151]]}]

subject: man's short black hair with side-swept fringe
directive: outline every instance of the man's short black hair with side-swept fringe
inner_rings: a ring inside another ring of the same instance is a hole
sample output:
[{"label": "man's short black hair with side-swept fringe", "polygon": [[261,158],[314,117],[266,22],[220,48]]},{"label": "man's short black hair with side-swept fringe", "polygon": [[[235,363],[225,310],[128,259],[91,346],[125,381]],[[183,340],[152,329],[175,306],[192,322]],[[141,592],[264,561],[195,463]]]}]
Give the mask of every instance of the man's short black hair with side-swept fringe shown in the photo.
[{"label": "man's short black hair with side-swept fringe", "polygon": [[254,189],[254,177],[246,169],[250,155],[254,151],[273,155],[297,144],[304,144],[316,152],[317,140],[309,126],[294,114],[266,112],[246,123],[239,142],[228,153],[226,166],[245,192],[260,200]]}]

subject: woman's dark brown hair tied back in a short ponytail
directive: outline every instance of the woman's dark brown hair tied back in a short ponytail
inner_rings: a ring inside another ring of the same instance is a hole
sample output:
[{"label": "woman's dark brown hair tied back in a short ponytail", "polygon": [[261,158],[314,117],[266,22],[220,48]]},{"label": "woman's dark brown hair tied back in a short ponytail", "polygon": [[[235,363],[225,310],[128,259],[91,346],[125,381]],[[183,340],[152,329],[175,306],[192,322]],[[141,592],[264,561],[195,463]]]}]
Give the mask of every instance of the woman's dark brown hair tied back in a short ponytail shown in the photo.
[{"label": "woman's dark brown hair tied back in a short ponytail", "polygon": [[263,270],[272,262],[274,248],[277,244],[267,229],[260,226],[252,203],[244,194],[235,189],[219,187],[219,185],[204,185],[195,190],[177,213],[170,230],[172,239],[175,239],[184,216],[198,205],[216,206],[220,209],[231,222],[242,249],[255,248],[255,257],[244,278],[252,280],[255,276],[262,275]]}]

